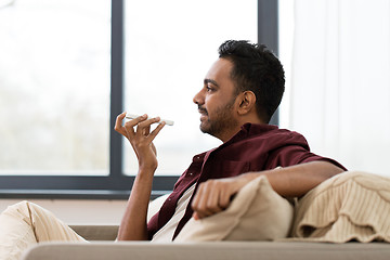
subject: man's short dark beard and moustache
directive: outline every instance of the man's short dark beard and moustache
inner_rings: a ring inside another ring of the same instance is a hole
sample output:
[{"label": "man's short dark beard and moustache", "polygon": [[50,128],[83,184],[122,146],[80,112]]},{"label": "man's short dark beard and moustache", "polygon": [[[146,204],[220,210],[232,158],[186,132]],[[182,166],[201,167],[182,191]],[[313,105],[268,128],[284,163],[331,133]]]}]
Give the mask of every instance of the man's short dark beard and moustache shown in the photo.
[{"label": "man's short dark beard and moustache", "polygon": [[234,101],[235,99],[232,99],[232,101],[230,101],[226,105],[218,107],[213,112],[212,119],[208,116],[207,109],[199,106],[199,112],[207,116],[206,120],[200,122],[200,131],[219,138],[223,132],[236,127],[238,121],[232,115]]}]

